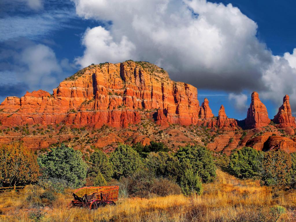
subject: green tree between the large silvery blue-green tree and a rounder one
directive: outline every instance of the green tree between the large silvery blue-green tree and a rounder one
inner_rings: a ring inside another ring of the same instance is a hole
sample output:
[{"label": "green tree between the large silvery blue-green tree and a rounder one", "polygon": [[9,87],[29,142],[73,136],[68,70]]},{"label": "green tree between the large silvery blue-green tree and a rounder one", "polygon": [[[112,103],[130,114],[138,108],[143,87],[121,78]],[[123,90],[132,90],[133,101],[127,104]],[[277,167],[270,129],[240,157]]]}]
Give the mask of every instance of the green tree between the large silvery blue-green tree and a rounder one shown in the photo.
[{"label": "green tree between the large silvery blue-green tree and a rounder one", "polygon": [[110,181],[114,174],[112,164],[108,156],[101,150],[96,150],[90,155],[89,158],[90,168],[88,171],[88,177],[96,177],[99,173],[102,173],[106,181]]}]

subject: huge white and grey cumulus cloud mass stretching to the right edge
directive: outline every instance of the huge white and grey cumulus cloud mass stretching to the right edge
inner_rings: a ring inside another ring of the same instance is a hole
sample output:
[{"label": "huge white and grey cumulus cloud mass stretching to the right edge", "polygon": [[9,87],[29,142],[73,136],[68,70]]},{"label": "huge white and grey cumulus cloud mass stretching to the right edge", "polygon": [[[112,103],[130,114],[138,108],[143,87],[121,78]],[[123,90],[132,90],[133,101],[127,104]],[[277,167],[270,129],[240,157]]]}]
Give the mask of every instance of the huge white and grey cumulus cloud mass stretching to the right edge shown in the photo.
[{"label": "huge white and grey cumulus cloud mass stretching to the right edge", "polygon": [[[240,94],[243,90],[258,91],[280,105],[284,94],[290,94],[296,108],[292,87],[296,53],[273,55],[256,37],[257,24],[231,4],[206,0],[73,2],[80,17],[111,24],[86,30],[86,49],[76,61],[81,66],[108,59],[145,60],[167,69],[174,80],[235,93],[240,99],[245,98]],[[96,38],[86,44],[92,32]],[[118,46],[118,52],[112,46]],[[239,102],[234,94],[230,97]]]}]

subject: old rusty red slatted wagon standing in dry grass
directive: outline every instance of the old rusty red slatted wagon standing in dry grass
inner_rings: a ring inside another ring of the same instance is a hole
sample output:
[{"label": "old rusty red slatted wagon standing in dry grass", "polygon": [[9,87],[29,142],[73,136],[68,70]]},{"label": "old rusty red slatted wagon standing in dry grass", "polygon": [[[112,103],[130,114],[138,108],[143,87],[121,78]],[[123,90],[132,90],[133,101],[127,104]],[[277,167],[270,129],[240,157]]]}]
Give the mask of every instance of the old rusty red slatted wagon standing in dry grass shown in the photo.
[{"label": "old rusty red slatted wagon standing in dry grass", "polygon": [[115,205],[118,200],[119,186],[89,186],[82,187],[73,192],[74,200],[70,207],[89,207],[97,209],[108,204]]}]

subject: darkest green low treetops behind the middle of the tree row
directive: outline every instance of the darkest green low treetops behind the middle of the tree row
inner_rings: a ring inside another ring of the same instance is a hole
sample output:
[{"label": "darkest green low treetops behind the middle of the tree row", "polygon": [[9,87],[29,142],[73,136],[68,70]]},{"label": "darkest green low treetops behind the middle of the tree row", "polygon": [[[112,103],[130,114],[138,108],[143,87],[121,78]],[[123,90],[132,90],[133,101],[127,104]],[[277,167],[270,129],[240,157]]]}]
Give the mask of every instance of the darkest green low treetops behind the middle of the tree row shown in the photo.
[{"label": "darkest green low treetops behind the middle of the tree row", "polygon": [[168,152],[169,149],[163,142],[151,141],[149,145],[143,146],[141,143],[133,144],[132,147],[141,157],[147,157],[150,152]]}]

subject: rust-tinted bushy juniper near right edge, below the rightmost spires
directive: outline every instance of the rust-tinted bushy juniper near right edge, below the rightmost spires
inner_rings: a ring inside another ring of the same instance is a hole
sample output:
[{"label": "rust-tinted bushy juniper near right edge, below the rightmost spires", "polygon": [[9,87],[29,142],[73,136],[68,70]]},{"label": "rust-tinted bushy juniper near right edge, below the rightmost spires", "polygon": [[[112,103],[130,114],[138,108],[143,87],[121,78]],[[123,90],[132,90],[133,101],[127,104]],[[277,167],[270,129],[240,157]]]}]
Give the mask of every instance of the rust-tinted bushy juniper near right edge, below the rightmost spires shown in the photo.
[{"label": "rust-tinted bushy juniper near right edge, below the rightmost spires", "polygon": [[266,185],[286,185],[291,179],[291,156],[282,151],[269,151],[263,163],[263,181]]}]

